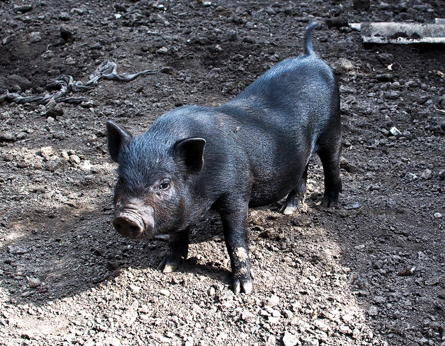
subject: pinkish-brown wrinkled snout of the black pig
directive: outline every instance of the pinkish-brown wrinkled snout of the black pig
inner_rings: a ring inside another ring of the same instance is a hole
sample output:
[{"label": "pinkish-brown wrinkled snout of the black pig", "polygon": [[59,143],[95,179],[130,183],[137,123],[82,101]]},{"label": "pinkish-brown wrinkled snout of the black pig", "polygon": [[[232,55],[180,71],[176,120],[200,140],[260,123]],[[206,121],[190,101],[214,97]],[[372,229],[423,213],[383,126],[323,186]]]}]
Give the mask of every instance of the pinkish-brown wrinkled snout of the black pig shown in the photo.
[{"label": "pinkish-brown wrinkled snout of the black pig", "polygon": [[149,235],[154,229],[153,208],[135,203],[116,205],[113,226],[124,237],[138,238],[144,232]]}]

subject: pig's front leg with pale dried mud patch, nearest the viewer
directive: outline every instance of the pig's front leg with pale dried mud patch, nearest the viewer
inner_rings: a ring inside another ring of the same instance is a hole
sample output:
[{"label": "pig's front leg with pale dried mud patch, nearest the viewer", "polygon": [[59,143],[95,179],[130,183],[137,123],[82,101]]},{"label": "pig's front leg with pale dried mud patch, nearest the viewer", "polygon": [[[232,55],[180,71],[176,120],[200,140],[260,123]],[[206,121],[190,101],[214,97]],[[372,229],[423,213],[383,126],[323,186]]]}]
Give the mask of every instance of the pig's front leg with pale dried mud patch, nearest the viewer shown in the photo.
[{"label": "pig's front leg with pale dried mud patch, nearest the viewer", "polygon": [[224,240],[230,257],[233,293],[252,292],[252,266],[247,247],[247,205],[239,210],[222,212]]}]

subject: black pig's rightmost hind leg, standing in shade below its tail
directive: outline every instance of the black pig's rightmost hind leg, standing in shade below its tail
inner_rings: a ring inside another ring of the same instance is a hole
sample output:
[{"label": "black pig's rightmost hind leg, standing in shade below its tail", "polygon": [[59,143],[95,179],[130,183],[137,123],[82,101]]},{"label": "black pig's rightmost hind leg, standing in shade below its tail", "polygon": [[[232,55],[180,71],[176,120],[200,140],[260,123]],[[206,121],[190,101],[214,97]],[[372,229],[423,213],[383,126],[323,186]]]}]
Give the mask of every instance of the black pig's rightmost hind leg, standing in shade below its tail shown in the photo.
[{"label": "black pig's rightmost hind leg, standing in shade below its tail", "polygon": [[318,150],[324,172],[323,206],[334,206],[338,202],[338,195],[342,192],[340,178],[340,146],[321,148]]}]

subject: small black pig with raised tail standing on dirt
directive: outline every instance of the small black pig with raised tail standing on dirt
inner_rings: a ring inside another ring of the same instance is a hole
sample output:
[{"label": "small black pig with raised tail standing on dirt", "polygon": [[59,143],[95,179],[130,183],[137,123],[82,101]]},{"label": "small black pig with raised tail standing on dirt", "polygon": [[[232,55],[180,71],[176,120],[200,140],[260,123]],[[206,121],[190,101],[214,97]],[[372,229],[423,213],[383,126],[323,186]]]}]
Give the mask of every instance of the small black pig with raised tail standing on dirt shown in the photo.
[{"label": "small black pig with raised tail standing on dirt", "polygon": [[249,206],[287,196],[294,212],[306,193],[308,162],[324,170],[323,205],[335,205],[341,119],[335,77],[313,51],[306,29],[304,55],[286,59],[218,107],[182,106],[134,137],[108,121],[108,148],[119,163],[113,225],[131,238],[170,235],[165,273],[188,251],[188,229],[209,209],[223,222],[233,291],[252,291],[247,247]]}]

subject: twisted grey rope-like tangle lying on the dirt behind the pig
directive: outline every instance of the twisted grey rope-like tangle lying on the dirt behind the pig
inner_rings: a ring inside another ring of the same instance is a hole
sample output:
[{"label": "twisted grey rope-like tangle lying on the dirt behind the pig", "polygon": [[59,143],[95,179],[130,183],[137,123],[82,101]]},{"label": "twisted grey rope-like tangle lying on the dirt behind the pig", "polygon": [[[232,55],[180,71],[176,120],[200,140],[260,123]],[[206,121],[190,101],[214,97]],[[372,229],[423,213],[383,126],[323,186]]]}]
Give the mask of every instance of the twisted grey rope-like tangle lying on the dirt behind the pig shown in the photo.
[{"label": "twisted grey rope-like tangle lying on the dirt behind the pig", "polygon": [[123,73],[119,75],[117,73],[117,65],[113,61],[106,59],[102,62],[96,70],[89,75],[89,81],[87,83],[82,83],[81,81],[75,81],[72,76],[61,75],[54,81],[50,81],[46,87],[48,89],[60,88],[54,94],[46,96],[21,96],[17,93],[6,94],[5,99],[11,102],[24,104],[27,102],[37,102],[38,104],[46,105],[49,102],[67,102],[78,104],[84,101],[89,101],[86,98],[73,98],[66,96],[67,93],[80,93],[94,89],[98,84],[99,79],[115,80],[121,82],[130,82],[134,78],[144,75],[156,74],[156,71],[145,70],[135,74]]}]

